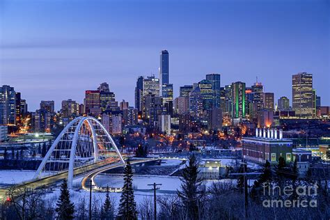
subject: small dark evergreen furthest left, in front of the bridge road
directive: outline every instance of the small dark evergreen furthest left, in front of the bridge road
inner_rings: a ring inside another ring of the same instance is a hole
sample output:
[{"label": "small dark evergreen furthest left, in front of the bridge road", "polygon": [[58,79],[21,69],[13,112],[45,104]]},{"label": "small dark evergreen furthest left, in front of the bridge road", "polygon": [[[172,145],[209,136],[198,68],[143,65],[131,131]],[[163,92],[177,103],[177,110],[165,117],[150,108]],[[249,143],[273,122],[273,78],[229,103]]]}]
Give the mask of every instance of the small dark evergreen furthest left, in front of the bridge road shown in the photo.
[{"label": "small dark evergreen furthest left, in front of the bridge road", "polygon": [[56,203],[58,219],[74,219],[74,204],[70,202],[70,192],[67,180],[61,184],[61,195]]}]

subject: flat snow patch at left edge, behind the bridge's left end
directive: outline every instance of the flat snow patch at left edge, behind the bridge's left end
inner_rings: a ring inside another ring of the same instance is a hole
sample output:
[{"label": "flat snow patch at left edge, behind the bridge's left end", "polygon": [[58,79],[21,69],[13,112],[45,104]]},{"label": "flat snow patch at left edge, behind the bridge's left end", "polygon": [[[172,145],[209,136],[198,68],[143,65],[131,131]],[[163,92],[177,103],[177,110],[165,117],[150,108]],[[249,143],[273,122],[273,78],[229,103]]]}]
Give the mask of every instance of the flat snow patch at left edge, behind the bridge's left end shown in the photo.
[{"label": "flat snow patch at left edge, behind the bridge's left end", "polygon": [[[5,170],[0,171],[0,184],[18,184],[33,179],[36,171]],[[41,173],[42,176],[49,173]]]}]

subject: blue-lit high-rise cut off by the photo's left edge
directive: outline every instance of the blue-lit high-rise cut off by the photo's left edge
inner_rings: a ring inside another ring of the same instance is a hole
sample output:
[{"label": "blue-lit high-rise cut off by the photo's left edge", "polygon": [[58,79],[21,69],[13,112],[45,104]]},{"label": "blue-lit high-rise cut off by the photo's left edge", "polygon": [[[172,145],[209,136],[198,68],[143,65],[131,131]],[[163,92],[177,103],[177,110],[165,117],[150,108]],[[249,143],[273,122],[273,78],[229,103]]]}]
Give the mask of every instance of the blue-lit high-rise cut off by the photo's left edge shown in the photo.
[{"label": "blue-lit high-rise cut off by the photo's left edge", "polygon": [[0,87],[0,125],[16,124],[16,92],[13,87]]}]

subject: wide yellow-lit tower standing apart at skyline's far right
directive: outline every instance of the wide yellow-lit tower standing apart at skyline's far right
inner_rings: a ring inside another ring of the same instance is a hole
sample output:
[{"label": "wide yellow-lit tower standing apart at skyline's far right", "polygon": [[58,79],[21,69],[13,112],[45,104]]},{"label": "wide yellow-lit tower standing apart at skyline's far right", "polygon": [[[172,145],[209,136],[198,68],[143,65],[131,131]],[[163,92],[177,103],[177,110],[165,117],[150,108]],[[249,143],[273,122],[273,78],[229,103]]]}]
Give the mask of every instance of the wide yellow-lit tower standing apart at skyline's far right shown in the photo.
[{"label": "wide yellow-lit tower standing apart at skyline's far right", "polygon": [[316,98],[313,74],[300,72],[292,75],[292,110],[299,118],[316,117]]}]

